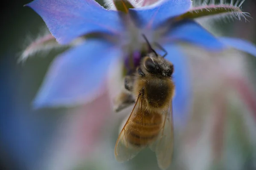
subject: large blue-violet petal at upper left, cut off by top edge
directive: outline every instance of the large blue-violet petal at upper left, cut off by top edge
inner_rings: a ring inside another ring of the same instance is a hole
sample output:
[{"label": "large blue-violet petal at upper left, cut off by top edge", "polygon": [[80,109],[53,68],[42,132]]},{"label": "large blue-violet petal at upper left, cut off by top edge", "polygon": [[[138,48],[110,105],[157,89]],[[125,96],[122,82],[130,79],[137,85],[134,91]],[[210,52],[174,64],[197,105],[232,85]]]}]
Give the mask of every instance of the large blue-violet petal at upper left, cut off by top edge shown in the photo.
[{"label": "large blue-violet petal at upper left, cut off by top edge", "polygon": [[34,0],[27,6],[62,44],[92,32],[119,34],[124,29],[119,12],[106,10],[95,0]]}]

